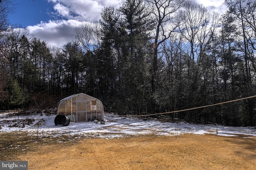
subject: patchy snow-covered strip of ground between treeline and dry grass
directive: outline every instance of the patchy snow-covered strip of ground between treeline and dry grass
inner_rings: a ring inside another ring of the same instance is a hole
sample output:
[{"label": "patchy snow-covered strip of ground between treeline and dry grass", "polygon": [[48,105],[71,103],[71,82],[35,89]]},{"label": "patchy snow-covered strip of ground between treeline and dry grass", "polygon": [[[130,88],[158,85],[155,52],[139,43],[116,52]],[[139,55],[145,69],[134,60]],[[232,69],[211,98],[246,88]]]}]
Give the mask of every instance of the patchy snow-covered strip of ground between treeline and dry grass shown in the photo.
[{"label": "patchy snow-covered strip of ground between treeline and dry grass", "polygon": [[[105,124],[94,122],[74,123],[68,126],[56,126],[56,115],[24,115],[18,116],[13,113],[0,113],[0,133],[23,132],[36,135],[37,129],[41,137],[61,137],[62,135],[76,137],[99,137],[105,139],[120,138],[132,135],[166,135],[176,136],[184,133],[193,134],[216,134],[222,136],[256,137],[256,127],[230,127],[216,125],[196,125],[184,122],[168,123],[156,119],[142,120],[138,118],[120,117],[114,114],[105,114]],[[42,124],[36,123],[43,119]],[[18,126],[15,124],[19,120]],[[217,133],[218,131],[218,133]]]}]

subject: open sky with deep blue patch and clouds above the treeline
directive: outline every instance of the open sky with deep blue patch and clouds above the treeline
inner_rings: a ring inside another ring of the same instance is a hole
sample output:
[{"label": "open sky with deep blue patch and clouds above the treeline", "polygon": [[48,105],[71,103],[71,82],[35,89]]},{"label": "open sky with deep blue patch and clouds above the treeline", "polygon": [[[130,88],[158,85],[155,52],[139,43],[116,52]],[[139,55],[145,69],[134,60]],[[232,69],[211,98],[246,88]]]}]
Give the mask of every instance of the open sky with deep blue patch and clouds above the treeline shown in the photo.
[{"label": "open sky with deep blue patch and clouds above the treeline", "polygon": [[[125,0],[16,0],[9,15],[11,25],[27,28],[29,34],[46,41],[48,46],[62,47],[74,38],[74,27],[100,19],[104,7],[119,8]],[[223,13],[224,0],[193,0],[209,10]]]}]

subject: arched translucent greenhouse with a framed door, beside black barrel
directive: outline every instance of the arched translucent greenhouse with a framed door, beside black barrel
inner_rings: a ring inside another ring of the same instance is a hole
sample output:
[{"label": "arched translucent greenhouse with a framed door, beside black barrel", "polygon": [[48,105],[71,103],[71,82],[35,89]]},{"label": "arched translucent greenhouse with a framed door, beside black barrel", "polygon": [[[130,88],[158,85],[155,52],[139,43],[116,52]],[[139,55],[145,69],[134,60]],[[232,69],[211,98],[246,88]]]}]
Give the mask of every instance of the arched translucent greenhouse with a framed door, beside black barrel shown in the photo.
[{"label": "arched translucent greenhouse with a framed door, beside black barrel", "polygon": [[103,120],[104,107],[100,100],[86,94],[73,94],[60,100],[57,115],[73,117],[75,122]]}]

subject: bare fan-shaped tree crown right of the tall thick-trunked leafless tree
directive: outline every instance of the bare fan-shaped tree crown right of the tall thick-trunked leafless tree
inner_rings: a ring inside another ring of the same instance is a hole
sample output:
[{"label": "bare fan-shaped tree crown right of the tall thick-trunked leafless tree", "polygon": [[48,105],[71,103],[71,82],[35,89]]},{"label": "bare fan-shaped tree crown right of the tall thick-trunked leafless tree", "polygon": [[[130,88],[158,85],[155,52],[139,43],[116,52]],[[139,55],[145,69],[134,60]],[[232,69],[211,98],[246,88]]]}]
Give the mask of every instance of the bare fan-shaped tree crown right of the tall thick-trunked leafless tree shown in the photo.
[{"label": "bare fan-shaped tree crown right of the tall thick-trunked leafless tree", "polygon": [[[214,14],[214,13],[213,13]],[[202,5],[194,5],[191,1],[185,3],[184,10],[181,12],[182,24],[180,25],[180,33],[190,44],[191,59],[195,59],[204,51],[210,40],[210,32],[216,27],[216,14],[211,15],[207,8]]]}]

